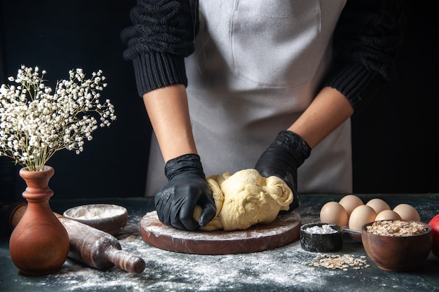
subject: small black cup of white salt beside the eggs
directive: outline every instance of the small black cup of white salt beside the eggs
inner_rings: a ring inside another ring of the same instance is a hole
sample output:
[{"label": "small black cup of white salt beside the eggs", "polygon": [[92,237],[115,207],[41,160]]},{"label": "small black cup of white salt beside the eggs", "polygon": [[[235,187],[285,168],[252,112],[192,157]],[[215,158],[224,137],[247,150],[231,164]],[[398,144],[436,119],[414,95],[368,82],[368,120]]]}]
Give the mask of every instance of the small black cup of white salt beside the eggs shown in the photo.
[{"label": "small black cup of white salt beside the eggs", "polygon": [[332,223],[308,223],[300,227],[300,246],[305,251],[329,252],[342,249],[343,234]]}]

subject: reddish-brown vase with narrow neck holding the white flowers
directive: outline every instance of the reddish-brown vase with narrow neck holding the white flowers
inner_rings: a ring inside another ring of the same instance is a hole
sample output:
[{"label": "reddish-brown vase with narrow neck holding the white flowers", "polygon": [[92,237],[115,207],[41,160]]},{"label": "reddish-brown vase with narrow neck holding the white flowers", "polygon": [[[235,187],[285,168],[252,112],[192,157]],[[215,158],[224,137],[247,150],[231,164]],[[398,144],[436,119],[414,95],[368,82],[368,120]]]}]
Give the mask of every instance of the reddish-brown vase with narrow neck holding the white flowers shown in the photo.
[{"label": "reddish-brown vase with narrow neck holding the white flowers", "polygon": [[22,196],[27,209],[9,241],[11,259],[22,274],[38,276],[58,272],[69,253],[69,235],[49,206],[53,191],[48,181],[55,173],[44,166],[41,172],[24,167],[20,176],[27,184]]}]

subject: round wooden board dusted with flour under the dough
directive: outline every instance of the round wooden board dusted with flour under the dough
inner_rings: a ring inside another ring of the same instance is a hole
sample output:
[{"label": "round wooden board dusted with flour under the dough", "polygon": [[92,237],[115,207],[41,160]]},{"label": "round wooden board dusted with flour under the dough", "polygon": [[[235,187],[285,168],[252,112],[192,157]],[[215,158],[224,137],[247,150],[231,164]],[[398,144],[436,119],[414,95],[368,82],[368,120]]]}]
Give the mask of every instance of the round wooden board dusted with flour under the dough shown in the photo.
[{"label": "round wooden board dusted with flour under the dough", "polygon": [[252,253],[290,244],[299,237],[301,219],[297,212],[279,214],[269,224],[236,231],[184,231],[163,225],[156,211],[143,216],[140,232],[144,242],[168,251],[196,254]]}]

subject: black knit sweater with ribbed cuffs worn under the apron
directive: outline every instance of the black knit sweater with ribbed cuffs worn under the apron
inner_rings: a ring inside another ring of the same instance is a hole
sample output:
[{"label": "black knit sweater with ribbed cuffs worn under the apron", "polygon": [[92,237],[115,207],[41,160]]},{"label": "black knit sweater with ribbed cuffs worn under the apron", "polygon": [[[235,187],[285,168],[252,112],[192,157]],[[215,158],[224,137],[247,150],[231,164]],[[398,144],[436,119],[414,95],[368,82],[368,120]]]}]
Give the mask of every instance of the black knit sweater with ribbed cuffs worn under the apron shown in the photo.
[{"label": "black knit sweater with ribbed cuffs worn under the apron", "polygon": [[[402,43],[403,1],[347,1],[334,32],[334,65],[323,85],[336,88],[353,109],[372,97],[379,85],[396,77],[395,58]],[[123,53],[132,60],[137,90],[184,84],[184,57],[194,52],[198,1],[138,0],[133,26],[121,33]]]}]

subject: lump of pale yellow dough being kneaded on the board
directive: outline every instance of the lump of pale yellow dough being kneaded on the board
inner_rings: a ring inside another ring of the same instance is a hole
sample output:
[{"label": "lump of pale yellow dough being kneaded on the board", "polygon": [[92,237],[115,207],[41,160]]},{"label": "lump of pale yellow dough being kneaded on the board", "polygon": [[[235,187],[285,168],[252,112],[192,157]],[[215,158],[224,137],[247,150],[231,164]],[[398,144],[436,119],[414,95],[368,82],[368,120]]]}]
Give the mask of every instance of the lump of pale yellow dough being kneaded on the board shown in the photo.
[{"label": "lump of pale yellow dough being kneaded on the board", "polygon": [[[217,214],[202,230],[243,230],[270,223],[280,210],[288,210],[293,200],[291,189],[282,179],[264,178],[256,169],[208,176],[207,181]],[[198,221],[200,215],[201,207],[196,206],[194,218]]]}]

